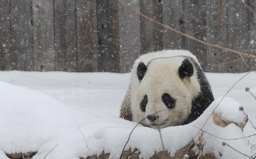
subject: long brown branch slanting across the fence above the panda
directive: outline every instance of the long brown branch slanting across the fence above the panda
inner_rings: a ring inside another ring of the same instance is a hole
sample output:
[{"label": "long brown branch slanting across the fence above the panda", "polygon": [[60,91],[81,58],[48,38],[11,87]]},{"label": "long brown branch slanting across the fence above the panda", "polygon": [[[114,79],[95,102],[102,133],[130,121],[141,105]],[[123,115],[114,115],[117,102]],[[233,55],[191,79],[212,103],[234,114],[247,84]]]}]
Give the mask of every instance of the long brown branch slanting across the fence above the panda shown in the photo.
[{"label": "long brown branch slanting across the fence above the panda", "polygon": [[227,48],[224,48],[224,47],[220,47],[220,46],[218,46],[218,45],[215,45],[215,44],[211,44],[211,43],[208,43],[208,42],[199,40],[199,39],[197,39],[197,38],[195,38],[195,37],[193,37],[193,36],[187,35],[187,34],[181,32],[181,31],[178,31],[178,30],[176,30],[176,29],[174,29],[174,28],[172,28],[172,27],[169,27],[169,26],[167,26],[167,25],[164,25],[164,24],[162,24],[161,22],[158,22],[158,21],[156,21],[156,20],[154,20],[154,19],[152,19],[152,18],[150,18],[150,17],[148,17],[148,16],[146,16],[146,15],[140,13],[139,11],[135,10],[135,9],[132,8],[131,6],[129,6],[129,5],[127,5],[126,3],[122,2],[121,0],[118,0],[118,2],[119,2],[120,4],[122,4],[123,6],[125,6],[126,8],[129,8],[132,12],[137,13],[139,16],[141,16],[141,17],[143,17],[143,18],[145,18],[145,19],[148,19],[148,20],[154,22],[154,23],[157,24],[157,25],[162,26],[163,28],[166,28],[167,30],[176,32],[176,33],[178,33],[178,34],[180,34],[180,35],[182,35],[182,36],[184,36],[184,37],[186,37],[186,38],[188,38],[188,39],[191,39],[191,40],[197,41],[197,42],[199,42],[199,43],[205,44],[206,46],[211,47],[211,48],[220,49],[220,50],[225,50],[225,51],[227,51],[227,52],[234,53],[234,54],[240,54],[241,56],[245,56],[245,57],[256,58],[255,55],[250,55],[250,54],[248,54],[248,53],[244,53],[244,52],[240,52],[240,51],[236,51],[236,50],[232,50],[232,49],[227,49]]}]

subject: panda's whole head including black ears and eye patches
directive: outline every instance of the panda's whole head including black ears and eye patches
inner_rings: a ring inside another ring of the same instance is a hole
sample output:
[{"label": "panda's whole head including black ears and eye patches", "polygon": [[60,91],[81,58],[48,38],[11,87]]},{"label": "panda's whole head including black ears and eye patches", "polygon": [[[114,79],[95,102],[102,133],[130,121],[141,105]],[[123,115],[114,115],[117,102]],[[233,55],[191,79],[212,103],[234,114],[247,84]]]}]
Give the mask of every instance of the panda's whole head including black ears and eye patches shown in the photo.
[{"label": "panda's whole head including black ears and eye patches", "polygon": [[192,99],[200,92],[196,69],[188,58],[159,58],[147,66],[140,62],[137,77],[141,82],[132,102],[133,121],[147,117],[143,125],[164,128],[187,119]]}]

